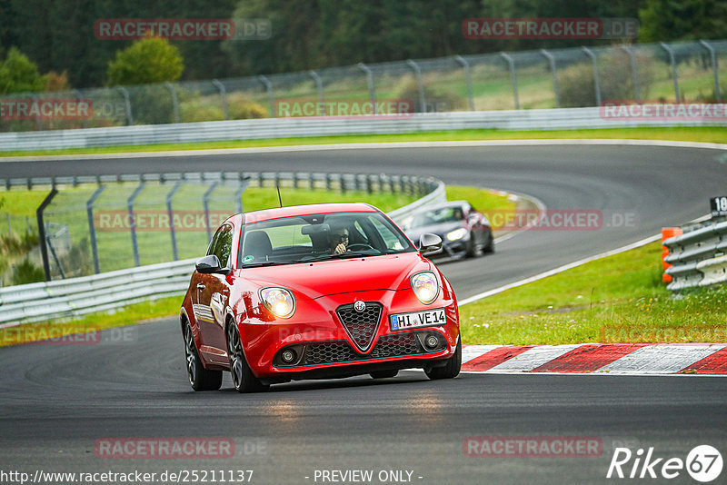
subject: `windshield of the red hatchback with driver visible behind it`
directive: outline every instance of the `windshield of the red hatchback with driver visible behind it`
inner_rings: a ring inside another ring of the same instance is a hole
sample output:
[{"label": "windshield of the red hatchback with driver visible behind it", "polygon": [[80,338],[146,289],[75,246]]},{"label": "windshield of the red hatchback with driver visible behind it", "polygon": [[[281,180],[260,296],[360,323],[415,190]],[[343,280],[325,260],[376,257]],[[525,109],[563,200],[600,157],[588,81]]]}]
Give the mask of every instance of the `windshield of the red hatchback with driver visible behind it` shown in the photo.
[{"label": "windshield of the red hatchback with driver visible behind it", "polygon": [[380,213],[330,213],[245,224],[240,267],[380,256],[416,249]]}]

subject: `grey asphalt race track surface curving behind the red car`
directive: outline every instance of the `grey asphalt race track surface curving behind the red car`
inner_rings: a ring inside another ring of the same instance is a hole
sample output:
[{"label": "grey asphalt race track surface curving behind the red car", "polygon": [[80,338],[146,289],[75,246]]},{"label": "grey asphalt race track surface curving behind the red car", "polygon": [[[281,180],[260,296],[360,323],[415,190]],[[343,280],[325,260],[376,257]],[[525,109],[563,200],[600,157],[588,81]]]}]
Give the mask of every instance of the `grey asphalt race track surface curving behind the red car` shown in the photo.
[{"label": "grey asphalt race track surface curving behind the red car", "polygon": [[[463,299],[707,213],[708,198],[723,194],[727,180],[719,154],[658,146],[379,148],[0,163],[0,176],[422,173],[527,193],[549,209],[635,215],[626,227],[520,233],[493,255],[443,264]],[[700,444],[727,452],[727,380],[720,378],[463,374],[427,381],[421,372],[404,371],[383,381],[304,381],[239,395],[225,376],[222,391],[194,393],[173,320],[129,327],[121,337],[107,333],[97,345],[3,348],[0,370],[0,470],[252,469],[254,483],[323,483],[314,480],[315,470],[373,470],[371,483],[381,483],[379,470],[410,470],[414,483],[598,483],[610,481],[605,476],[618,443],[682,460]],[[603,452],[595,458],[468,457],[463,440],[471,436],[597,437]],[[107,437],[227,437],[235,456],[99,458],[95,441]],[[668,481],[693,482],[683,470]]]}]

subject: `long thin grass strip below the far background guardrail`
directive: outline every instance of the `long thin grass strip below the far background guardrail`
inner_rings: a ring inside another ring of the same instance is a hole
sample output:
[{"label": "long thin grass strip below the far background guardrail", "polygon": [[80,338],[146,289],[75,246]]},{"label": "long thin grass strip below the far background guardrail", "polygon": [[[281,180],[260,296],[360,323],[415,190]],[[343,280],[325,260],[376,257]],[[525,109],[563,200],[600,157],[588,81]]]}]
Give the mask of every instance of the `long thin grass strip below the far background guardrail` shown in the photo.
[{"label": "long thin grass strip below the far background guardrail", "polygon": [[[257,148],[264,146],[294,146],[314,144],[367,144],[387,142],[435,142],[467,140],[543,140],[543,139],[635,139],[681,140],[688,142],[727,143],[727,130],[720,126],[672,128],[603,128],[593,130],[504,131],[461,130],[417,134],[358,134],[343,136],[311,136],[275,138],[270,140],[236,140],[188,144],[120,145],[99,148],[68,148],[64,150],[34,150],[31,152],[0,152],[0,156],[41,156],[60,154],[139,153],[175,150],[212,150],[224,148]],[[291,167],[294,170],[294,166]]]}]

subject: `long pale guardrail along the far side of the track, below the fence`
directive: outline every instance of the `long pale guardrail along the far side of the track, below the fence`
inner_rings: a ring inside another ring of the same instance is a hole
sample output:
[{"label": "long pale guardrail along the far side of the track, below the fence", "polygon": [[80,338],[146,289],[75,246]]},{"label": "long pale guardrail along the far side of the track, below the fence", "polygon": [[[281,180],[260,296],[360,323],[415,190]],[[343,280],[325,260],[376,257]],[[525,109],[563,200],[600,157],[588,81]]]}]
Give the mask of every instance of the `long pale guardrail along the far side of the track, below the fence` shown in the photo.
[{"label": "long pale guardrail along the far side of the track, below the fence", "polygon": [[183,124],[144,124],[109,128],[0,134],[0,151],[60,150],[134,144],[178,144],[345,134],[408,134],[446,130],[556,130],[635,126],[714,126],[716,118],[625,119],[602,116],[598,107],[381,114],[348,118],[270,118]]}]

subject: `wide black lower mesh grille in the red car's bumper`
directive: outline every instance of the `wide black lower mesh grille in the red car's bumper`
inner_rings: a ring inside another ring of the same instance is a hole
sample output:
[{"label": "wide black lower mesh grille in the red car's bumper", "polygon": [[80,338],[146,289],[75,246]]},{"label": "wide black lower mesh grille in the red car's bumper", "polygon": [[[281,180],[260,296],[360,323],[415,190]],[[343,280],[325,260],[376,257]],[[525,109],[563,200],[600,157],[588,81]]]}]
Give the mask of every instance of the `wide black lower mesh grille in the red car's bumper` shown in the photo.
[{"label": "wide black lower mesh grille in the red car's bumper", "polygon": [[[320,365],[335,362],[350,361],[372,361],[374,359],[386,359],[390,357],[400,357],[403,355],[420,355],[442,351],[445,348],[444,341],[442,346],[433,351],[426,351],[423,348],[423,338],[430,332],[405,332],[392,335],[383,335],[376,341],[371,352],[367,355],[361,355],[354,351],[348,341],[321,341],[304,344],[303,357],[300,361],[291,365],[276,363],[279,367],[296,367],[301,365]],[[419,335],[418,335],[419,334]],[[283,352],[282,349],[278,355]],[[276,359],[276,362],[279,360]]]}]

